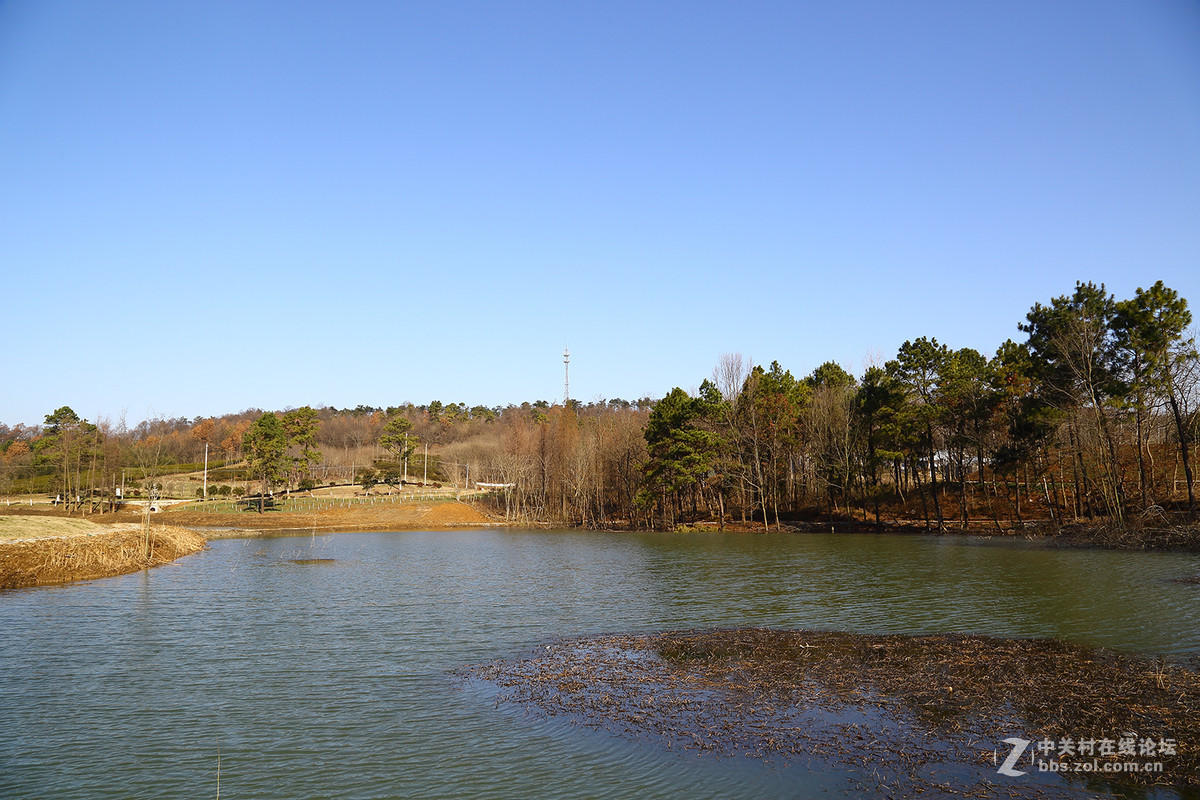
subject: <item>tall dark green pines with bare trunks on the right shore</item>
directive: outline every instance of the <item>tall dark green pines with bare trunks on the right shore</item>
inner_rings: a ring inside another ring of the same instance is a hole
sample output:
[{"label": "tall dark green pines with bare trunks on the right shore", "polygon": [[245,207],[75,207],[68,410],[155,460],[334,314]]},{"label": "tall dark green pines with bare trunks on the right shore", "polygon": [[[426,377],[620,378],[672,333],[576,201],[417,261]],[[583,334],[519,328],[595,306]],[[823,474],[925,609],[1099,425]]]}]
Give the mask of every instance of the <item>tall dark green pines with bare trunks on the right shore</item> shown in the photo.
[{"label": "tall dark green pines with bare trunks on the right shore", "polygon": [[1120,301],[1079,283],[991,357],[920,337],[858,379],[833,362],[796,379],[725,356],[655,404],[640,503],[655,527],[724,521],[732,501],[766,528],[823,506],[944,530],[1166,515],[1182,483],[1194,518],[1190,321],[1162,282]]}]

